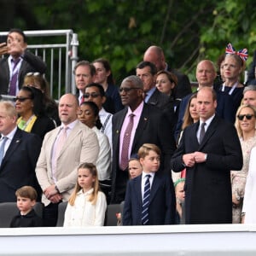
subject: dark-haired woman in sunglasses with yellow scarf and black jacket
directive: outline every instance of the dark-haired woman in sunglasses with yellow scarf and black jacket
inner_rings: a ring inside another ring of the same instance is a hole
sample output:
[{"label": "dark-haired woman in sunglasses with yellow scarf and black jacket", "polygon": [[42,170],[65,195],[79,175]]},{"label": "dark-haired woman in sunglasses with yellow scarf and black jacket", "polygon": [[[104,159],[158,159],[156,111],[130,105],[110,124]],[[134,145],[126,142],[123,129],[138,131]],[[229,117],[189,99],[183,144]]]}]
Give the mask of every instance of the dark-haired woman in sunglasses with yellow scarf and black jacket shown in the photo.
[{"label": "dark-haired woman in sunglasses with yellow scarf and black jacket", "polygon": [[15,97],[15,108],[19,114],[17,125],[21,130],[44,135],[55,128],[55,123],[44,113],[43,93],[32,86],[23,86]]}]

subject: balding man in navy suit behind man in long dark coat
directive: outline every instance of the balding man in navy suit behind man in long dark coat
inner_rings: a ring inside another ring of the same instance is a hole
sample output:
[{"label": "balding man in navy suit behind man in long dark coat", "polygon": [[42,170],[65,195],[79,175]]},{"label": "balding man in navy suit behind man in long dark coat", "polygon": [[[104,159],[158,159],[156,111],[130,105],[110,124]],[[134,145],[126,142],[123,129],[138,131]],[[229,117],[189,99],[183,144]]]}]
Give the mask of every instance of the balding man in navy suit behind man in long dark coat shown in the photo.
[{"label": "balding man in navy suit behind man in long dark coat", "polygon": [[[217,73],[212,61],[204,60],[200,61],[196,67],[196,79],[198,81],[198,90],[202,87],[211,87],[217,93],[217,108],[216,113],[218,117],[230,121],[232,124],[235,122],[236,119],[236,109],[234,108],[234,103],[230,95],[216,90],[213,87],[213,81],[216,78]],[[189,102],[189,98],[192,94],[185,96],[182,102],[179,105],[179,113],[177,118],[177,125],[174,136],[176,140],[178,139],[179,133],[181,131],[181,127],[183,125],[183,116],[186,110],[186,107]]]}]

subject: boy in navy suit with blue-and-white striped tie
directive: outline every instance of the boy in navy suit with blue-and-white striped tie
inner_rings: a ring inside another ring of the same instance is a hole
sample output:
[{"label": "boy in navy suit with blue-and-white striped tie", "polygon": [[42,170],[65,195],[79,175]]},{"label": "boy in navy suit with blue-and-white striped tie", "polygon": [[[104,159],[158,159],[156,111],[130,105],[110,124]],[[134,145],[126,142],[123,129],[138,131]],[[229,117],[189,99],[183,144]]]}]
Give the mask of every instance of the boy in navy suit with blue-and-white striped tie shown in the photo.
[{"label": "boy in navy suit with blue-and-white striped tie", "polygon": [[171,177],[159,172],[160,148],[145,143],[139,148],[138,157],[143,173],[127,184],[123,225],[174,224],[175,192]]}]

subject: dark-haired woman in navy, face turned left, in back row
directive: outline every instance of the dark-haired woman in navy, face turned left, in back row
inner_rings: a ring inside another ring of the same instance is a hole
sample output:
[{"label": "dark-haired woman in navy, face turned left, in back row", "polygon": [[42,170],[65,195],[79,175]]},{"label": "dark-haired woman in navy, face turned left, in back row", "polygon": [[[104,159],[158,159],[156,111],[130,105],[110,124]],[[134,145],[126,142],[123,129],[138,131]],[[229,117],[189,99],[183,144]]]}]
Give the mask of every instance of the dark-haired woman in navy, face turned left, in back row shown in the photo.
[{"label": "dark-haired woman in navy, face turned left, in back row", "polygon": [[107,101],[104,102],[103,107],[109,113],[116,113],[123,109],[124,106],[119,96],[119,88],[114,85],[113,74],[111,71],[110,63],[105,59],[96,59],[92,62],[96,68],[96,76],[94,82],[102,84],[105,91]]}]

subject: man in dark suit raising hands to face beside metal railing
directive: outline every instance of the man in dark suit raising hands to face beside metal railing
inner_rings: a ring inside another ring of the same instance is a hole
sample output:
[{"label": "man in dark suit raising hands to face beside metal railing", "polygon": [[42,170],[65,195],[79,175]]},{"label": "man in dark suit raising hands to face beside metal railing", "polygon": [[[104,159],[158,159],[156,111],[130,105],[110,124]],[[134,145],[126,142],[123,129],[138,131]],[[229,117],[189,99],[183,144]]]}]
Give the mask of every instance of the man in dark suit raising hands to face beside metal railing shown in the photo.
[{"label": "man in dark suit raising hands to face beside metal railing", "polygon": [[0,94],[16,96],[26,73],[45,73],[46,64],[27,50],[26,35],[20,29],[11,29],[7,37],[9,56],[0,60]]}]

